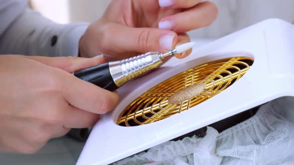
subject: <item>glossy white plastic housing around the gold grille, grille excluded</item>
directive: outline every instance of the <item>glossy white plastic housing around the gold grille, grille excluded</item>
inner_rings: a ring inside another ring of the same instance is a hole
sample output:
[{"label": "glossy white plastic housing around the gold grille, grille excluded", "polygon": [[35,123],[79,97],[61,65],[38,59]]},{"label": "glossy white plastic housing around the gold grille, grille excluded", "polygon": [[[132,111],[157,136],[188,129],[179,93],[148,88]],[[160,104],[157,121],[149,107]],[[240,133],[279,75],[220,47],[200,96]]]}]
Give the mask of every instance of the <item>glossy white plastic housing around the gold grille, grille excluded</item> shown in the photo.
[{"label": "glossy white plastic housing around the gold grille, grille excluded", "polygon": [[[194,49],[186,59],[172,58],[119,89],[120,104],[94,126],[77,165],[114,163],[275,98],[294,96],[293,43],[294,25],[268,19]],[[123,109],[157,83],[186,69],[232,56],[249,56],[255,61],[239,81],[216,96],[155,123],[136,127],[116,124]]]}]

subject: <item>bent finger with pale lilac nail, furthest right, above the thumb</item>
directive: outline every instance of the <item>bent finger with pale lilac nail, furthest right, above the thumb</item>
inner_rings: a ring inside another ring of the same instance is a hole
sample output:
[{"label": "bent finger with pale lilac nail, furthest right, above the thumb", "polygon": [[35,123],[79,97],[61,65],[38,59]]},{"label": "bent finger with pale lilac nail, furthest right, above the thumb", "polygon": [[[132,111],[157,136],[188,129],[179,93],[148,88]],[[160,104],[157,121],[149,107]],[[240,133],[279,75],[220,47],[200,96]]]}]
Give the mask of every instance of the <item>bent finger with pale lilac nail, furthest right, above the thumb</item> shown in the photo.
[{"label": "bent finger with pale lilac nail, furthest right, above the thumb", "polygon": [[217,13],[216,5],[205,1],[186,11],[162,18],[158,27],[175,32],[187,32],[210,25],[216,19]]}]

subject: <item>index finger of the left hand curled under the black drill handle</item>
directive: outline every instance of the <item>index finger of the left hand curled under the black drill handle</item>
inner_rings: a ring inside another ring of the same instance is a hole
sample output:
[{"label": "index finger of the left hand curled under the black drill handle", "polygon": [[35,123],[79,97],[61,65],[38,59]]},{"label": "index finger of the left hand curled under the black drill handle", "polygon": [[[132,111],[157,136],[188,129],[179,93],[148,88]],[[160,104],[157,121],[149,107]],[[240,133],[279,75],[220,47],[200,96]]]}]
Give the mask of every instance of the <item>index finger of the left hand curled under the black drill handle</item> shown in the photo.
[{"label": "index finger of the left hand curled under the black drill handle", "polygon": [[116,92],[80,80],[70,74],[61,73],[60,83],[63,98],[71,105],[96,114],[113,110],[119,102]]}]

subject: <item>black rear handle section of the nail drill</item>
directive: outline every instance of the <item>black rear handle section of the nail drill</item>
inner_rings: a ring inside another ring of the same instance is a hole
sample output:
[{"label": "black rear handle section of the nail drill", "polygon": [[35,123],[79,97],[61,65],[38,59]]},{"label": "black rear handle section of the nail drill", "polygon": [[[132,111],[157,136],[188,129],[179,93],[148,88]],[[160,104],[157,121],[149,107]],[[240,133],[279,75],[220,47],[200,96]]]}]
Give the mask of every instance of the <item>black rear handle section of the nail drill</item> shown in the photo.
[{"label": "black rear handle section of the nail drill", "polygon": [[108,63],[75,72],[74,76],[110,91],[119,88],[113,81]]}]

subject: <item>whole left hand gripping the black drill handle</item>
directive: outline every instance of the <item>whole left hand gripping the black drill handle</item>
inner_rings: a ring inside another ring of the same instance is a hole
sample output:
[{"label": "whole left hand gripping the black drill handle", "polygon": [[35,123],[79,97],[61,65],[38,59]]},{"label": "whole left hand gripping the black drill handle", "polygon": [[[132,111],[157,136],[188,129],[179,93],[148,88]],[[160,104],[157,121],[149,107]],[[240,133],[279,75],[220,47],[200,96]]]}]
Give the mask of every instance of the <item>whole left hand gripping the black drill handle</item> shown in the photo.
[{"label": "whole left hand gripping the black drill handle", "polygon": [[[0,56],[0,151],[31,154],[70,128],[92,126],[119,101],[72,74],[103,57]],[[102,97],[103,96],[103,97]]]}]

